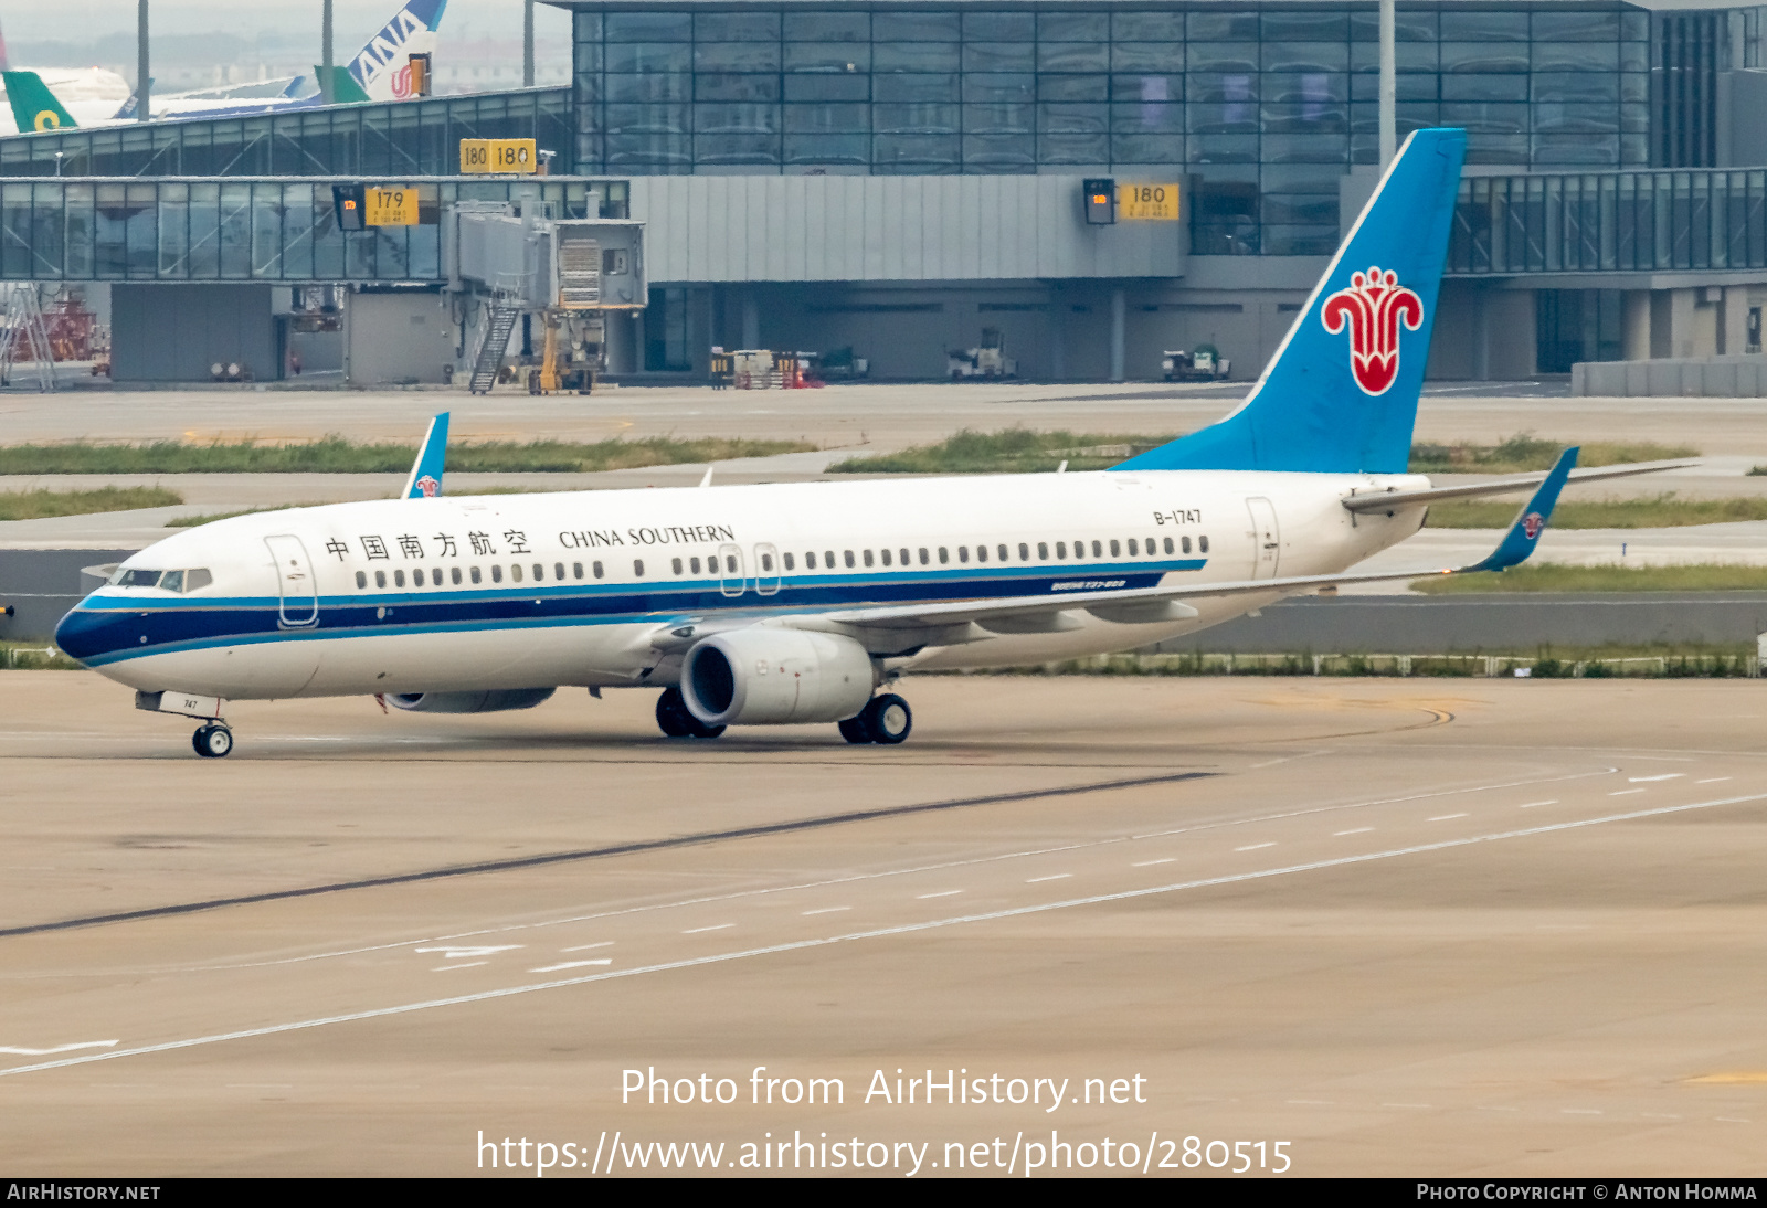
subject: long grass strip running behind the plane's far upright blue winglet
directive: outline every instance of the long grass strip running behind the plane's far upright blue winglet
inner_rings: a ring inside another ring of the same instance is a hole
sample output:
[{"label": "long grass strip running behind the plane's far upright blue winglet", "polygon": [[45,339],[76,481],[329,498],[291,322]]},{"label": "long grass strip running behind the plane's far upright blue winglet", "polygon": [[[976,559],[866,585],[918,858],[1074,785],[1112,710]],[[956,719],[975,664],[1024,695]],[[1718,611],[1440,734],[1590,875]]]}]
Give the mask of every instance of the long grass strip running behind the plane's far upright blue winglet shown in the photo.
[{"label": "long grass strip running behind the plane's far upright blue winglet", "polygon": [[[746,440],[740,436],[645,436],[641,440],[482,442],[451,445],[454,473],[592,473],[641,470],[733,457],[772,457],[815,452],[804,440]],[[405,473],[417,445],[357,443],[330,434],[306,443],[262,445],[216,442],[187,445],[159,440],[145,445],[0,445],[0,475],[7,473]]]}]

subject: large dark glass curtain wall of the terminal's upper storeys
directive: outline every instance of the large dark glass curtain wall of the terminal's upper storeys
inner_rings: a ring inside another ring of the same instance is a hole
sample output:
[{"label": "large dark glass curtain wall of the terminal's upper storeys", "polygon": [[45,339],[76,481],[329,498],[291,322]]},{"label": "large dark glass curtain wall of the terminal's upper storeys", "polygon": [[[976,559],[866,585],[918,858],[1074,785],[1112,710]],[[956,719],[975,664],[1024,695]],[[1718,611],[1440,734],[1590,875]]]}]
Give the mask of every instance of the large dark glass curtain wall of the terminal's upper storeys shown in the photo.
[{"label": "large dark glass curtain wall of the terminal's upper storeys", "polygon": [[[1378,157],[1375,4],[573,7],[580,171],[1184,173],[1194,253],[1329,254]],[[1399,4],[1399,136],[1647,166],[1650,53],[1626,4]]]}]

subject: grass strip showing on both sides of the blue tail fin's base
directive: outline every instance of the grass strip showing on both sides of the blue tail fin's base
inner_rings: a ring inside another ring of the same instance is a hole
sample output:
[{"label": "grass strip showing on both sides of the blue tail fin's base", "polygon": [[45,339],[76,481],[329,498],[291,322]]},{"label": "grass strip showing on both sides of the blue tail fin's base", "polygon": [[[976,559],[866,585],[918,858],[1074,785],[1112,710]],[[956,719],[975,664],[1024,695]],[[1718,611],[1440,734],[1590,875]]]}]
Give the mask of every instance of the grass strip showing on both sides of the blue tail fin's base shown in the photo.
[{"label": "grass strip showing on both sides of the blue tail fin's base", "polygon": [[[829,466],[832,473],[1048,473],[1064,461],[1069,470],[1108,470],[1134,454],[1157,449],[1175,434],[1051,433],[1007,427],[998,433],[963,429],[933,445],[915,445],[878,457],[848,457]],[[1454,442],[1412,445],[1412,473],[1525,473],[1550,470],[1558,454],[1576,442],[1509,436],[1495,445]],[[1589,442],[1580,466],[1613,466],[1627,461],[1693,457],[1687,445],[1647,442]],[[1504,525],[1509,521],[1505,519]],[[1691,521],[1703,523],[1703,521]]]}]

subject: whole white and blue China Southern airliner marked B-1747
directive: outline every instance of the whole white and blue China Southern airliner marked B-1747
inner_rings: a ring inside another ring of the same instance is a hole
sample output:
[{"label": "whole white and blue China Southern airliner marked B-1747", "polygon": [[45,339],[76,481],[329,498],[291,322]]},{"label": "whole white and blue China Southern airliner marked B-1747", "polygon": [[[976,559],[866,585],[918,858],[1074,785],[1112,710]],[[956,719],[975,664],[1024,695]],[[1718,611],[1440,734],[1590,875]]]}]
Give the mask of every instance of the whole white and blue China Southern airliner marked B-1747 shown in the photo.
[{"label": "whole white and blue China Southern airliner marked B-1747", "polygon": [[[406,498],[240,516],[124,562],[64,652],[200,719],[228,699],[375,694],[530,708],[661,689],[663,733],[839,722],[908,736],[906,671],[1129,650],[1346,574],[1435,500],[1539,484],[1483,562],[1527,558],[1567,479],[1433,489],[1407,473],[1461,131],[1407,140],[1295,325],[1225,420],[1099,473],[440,496],[436,417]],[[1663,466],[1649,466],[1663,468]],[[1452,574],[1456,570],[1444,570]]]}]

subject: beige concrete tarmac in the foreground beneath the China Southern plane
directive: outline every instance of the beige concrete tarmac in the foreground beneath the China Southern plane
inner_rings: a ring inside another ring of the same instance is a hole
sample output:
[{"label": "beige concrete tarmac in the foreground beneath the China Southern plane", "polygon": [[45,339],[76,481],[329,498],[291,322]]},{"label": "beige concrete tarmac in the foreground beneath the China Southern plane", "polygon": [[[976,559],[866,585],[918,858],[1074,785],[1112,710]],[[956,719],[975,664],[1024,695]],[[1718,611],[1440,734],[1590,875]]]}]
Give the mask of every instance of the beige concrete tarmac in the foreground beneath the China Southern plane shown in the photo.
[{"label": "beige concrete tarmac in the foreground beneath the China Southern plane", "polygon": [[[1263,1143],[1249,1173],[1684,1176],[1767,1146],[1753,680],[933,676],[901,747],[670,742],[638,691],[247,703],[224,761],[95,675],[0,685],[12,1171],[532,1176],[525,1139],[553,1176],[689,1141],[724,1174]],[[928,1070],[972,1102],[928,1106]],[[622,1091],[652,1077],[671,1102]]]}]

